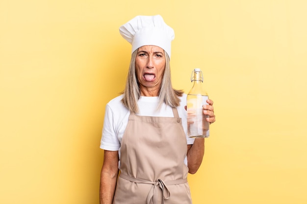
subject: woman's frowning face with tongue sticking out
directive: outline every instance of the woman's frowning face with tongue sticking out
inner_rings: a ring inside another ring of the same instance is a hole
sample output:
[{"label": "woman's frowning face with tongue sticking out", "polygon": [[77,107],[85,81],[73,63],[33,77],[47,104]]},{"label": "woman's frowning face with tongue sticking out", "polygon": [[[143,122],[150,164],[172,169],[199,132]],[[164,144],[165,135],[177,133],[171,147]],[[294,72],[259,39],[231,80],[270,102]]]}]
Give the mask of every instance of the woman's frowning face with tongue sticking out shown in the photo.
[{"label": "woman's frowning face with tongue sticking out", "polygon": [[145,45],[138,48],[135,70],[141,88],[141,95],[159,94],[165,69],[165,55],[161,47]]}]

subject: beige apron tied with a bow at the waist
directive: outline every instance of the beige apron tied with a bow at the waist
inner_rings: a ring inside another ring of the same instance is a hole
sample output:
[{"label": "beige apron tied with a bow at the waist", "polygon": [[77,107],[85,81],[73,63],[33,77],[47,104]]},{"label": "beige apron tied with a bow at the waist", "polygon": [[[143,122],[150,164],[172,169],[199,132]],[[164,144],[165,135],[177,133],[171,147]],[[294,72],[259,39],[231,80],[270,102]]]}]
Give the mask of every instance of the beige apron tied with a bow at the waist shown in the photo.
[{"label": "beige apron tied with a bow at the waist", "polygon": [[192,204],[186,136],[174,117],[129,115],[113,204]]}]

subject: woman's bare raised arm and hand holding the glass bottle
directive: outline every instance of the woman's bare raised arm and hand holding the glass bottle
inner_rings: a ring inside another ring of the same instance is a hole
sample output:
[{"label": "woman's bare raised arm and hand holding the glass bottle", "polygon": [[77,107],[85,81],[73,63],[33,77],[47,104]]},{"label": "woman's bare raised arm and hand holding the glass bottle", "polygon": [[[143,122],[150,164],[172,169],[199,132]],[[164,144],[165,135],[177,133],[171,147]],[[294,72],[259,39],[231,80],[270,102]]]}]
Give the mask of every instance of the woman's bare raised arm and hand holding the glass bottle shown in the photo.
[{"label": "woman's bare raised arm and hand holding the glass bottle", "polygon": [[[213,101],[208,99],[208,105],[204,105],[204,114],[209,115],[206,120],[209,123],[215,122],[215,115],[213,109]],[[205,139],[204,138],[196,138],[193,144],[188,145],[187,151],[187,160],[188,160],[188,167],[189,173],[195,174],[199,167],[202,164],[203,157],[205,153]]]}]

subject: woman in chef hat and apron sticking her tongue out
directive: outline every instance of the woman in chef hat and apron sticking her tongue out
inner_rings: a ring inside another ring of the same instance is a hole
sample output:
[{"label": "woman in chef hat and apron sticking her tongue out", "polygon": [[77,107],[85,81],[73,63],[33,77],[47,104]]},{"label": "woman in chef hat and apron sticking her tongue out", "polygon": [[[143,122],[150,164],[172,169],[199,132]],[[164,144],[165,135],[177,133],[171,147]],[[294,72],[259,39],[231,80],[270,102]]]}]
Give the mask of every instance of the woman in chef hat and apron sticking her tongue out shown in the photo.
[{"label": "woman in chef hat and apron sticking her tongue out", "polygon": [[[100,202],[191,204],[187,173],[200,167],[205,145],[186,137],[186,95],[171,85],[174,31],[158,15],[137,16],[120,33],[132,55],[124,94],[106,106]],[[213,101],[207,103],[212,123]]]}]

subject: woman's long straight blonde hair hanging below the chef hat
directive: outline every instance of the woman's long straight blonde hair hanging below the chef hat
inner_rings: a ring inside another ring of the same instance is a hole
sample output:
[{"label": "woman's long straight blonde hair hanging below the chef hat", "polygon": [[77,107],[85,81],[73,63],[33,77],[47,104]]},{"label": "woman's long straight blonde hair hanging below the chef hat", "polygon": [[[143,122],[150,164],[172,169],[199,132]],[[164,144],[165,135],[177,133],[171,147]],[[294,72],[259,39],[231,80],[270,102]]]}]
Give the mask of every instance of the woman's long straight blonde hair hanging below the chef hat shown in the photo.
[{"label": "woman's long straight blonde hair hanging below the chef hat", "polygon": [[[137,101],[141,97],[140,86],[135,72],[135,58],[137,51],[138,49],[136,49],[131,54],[126,87],[125,90],[123,91],[124,97],[122,99],[124,106],[132,113],[139,112]],[[164,69],[163,79],[161,82],[161,87],[159,90],[159,103],[157,109],[160,109],[163,103],[171,107],[179,106],[180,103],[179,97],[182,96],[183,94],[182,90],[175,90],[172,87],[170,58],[165,51],[164,55],[165,55],[165,69]]]}]

